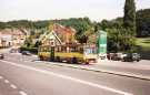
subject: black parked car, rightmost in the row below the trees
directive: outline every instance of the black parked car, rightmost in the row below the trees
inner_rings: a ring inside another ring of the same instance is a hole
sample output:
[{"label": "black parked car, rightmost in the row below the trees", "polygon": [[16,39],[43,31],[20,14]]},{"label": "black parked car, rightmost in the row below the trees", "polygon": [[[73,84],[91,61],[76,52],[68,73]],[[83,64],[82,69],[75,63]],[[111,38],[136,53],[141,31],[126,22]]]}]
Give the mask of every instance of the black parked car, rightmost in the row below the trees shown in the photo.
[{"label": "black parked car, rightmost in the row below the trees", "polygon": [[140,60],[141,60],[141,56],[138,53],[124,53],[122,55],[123,62],[133,62],[133,61],[139,62]]}]

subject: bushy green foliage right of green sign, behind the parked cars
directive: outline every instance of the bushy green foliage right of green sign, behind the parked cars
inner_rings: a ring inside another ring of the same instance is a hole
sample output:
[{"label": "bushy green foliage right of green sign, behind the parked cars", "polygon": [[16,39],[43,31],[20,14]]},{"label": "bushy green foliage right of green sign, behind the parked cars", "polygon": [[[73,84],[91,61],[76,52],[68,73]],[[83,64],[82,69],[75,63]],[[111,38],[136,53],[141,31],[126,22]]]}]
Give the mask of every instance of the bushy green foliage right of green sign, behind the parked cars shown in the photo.
[{"label": "bushy green foliage right of green sign, behind the parked cars", "polygon": [[130,30],[120,28],[120,29],[107,29],[108,31],[108,51],[109,52],[120,52],[129,51],[132,52],[136,38],[130,34]]}]

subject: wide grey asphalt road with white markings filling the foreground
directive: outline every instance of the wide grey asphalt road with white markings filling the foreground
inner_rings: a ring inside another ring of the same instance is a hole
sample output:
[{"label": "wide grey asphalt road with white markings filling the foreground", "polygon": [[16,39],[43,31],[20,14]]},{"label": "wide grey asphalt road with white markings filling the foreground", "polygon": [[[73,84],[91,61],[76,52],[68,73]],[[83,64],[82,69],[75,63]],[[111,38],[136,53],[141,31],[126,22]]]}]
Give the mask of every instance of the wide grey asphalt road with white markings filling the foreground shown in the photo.
[{"label": "wide grey asphalt road with white markings filling the foreground", "polygon": [[150,81],[34,62],[8,54],[0,61],[0,95],[149,95]]}]

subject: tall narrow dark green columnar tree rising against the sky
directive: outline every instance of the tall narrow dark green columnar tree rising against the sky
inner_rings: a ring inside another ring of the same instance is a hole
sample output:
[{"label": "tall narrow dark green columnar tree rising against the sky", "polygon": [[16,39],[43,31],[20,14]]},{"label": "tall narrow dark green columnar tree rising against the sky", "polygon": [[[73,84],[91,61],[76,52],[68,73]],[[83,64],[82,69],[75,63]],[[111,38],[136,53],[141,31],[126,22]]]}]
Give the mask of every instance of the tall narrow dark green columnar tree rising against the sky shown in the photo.
[{"label": "tall narrow dark green columnar tree rising against the sky", "polygon": [[131,34],[136,34],[136,4],[134,0],[126,0],[123,25],[131,30]]}]

